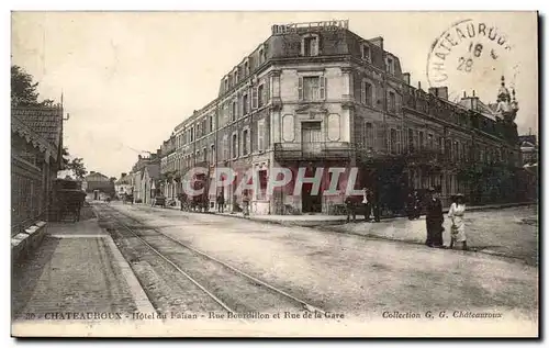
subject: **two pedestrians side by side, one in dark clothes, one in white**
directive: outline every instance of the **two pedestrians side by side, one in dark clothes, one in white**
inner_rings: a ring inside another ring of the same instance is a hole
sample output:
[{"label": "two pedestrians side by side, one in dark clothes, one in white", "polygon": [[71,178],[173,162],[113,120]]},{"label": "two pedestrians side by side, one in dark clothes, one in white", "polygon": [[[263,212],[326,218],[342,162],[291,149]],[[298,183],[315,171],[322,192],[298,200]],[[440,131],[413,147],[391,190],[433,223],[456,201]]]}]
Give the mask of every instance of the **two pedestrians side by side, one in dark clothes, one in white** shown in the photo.
[{"label": "two pedestrians side by side, one in dark clothes, one in white", "polygon": [[[445,231],[442,203],[440,202],[439,191],[429,190],[430,198],[426,202],[426,223],[427,223],[427,239],[425,245],[428,247],[444,248],[442,233]],[[448,217],[451,221],[450,229],[450,246],[452,249],[456,245],[461,244],[463,250],[468,250],[466,237],[466,200],[463,194],[456,194],[452,198]]]}]

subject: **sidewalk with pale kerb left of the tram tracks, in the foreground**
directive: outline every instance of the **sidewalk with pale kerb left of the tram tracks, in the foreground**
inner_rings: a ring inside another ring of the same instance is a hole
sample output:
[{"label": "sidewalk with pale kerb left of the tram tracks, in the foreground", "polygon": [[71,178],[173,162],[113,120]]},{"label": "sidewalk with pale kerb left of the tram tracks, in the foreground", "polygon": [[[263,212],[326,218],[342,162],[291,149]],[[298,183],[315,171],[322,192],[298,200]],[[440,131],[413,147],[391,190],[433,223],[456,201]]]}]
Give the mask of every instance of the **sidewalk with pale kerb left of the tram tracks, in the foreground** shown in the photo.
[{"label": "sidewalk with pale kerb left of the tram tracks, in the foreground", "polygon": [[124,318],[135,311],[154,311],[130,266],[111,236],[99,227],[97,218],[48,223],[41,246],[12,268],[12,318],[15,322],[63,319],[68,312],[103,316],[120,313]]}]

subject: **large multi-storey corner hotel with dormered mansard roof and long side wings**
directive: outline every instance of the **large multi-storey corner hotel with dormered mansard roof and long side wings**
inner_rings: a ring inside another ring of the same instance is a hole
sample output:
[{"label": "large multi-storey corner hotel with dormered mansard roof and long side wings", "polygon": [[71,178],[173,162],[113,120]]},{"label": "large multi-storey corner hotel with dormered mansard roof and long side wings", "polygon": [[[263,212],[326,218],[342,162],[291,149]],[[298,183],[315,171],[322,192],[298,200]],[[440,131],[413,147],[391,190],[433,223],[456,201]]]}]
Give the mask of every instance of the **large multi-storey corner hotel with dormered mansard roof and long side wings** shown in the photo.
[{"label": "large multi-storey corner hotel with dormered mansard roof and long side wings", "polygon": [[[402,210],[410,190],[429,186],[441,187],[445,204],[458,191],[486,201],[474,164],[518,165],[516,110],[504,86],[498,102],[488,106],[466,97],[462,105],[449,102],[445,88],[413,88],[399,57],[383,49],[383,38],[361,38],[348,21],[273,25],[272,35],[222,78],[217,98],[177,125],[161,146],[164,192],[176,198],[193,167],[210,168],[209,180],[216,166],[229,167],[236,182],[253,168],[259,178],[250,192],[253,213],[333,214],[345,200],[350,168],[358,167],[355,188],[373,190],[384,214]],[[293,179],[268,197],[276,167],[291,169]],[[339,177],[340,194],[328,197],[322,192],[330,183],[329,167],[347,170]],[[324,168],[320,194],[304,184],[293,195],[299,168],[306,177]],[[500,191],[512,190],[508,180],[491,194],[500,199]],[[242,203],[234,190],[216,193],[228,209]],[[215,197],[209,200],[214,207]]]}]

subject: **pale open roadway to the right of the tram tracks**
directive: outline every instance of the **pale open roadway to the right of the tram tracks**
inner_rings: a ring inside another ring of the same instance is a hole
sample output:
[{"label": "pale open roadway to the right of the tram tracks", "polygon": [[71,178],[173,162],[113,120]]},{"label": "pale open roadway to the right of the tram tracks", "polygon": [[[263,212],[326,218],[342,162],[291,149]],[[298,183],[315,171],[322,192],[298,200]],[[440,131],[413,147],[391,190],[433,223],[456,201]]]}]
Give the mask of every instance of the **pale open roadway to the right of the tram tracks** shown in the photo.
[{"label": "pale open roadway to the right of the tram tracks", "polygon": [[[143,224],[328,312],[497,310],[533,318],[537,268],[479,252],[112,204]],[[493,214],[480,213],[490,225]]]}]

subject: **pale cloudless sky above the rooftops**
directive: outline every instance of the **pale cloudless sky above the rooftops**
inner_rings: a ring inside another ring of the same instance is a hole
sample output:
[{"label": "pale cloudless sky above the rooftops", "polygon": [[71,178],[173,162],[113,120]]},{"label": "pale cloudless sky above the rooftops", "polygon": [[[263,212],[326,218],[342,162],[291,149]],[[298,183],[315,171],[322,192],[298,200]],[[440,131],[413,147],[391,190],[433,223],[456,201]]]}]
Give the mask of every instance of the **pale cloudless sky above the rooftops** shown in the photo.
[{"label": "pale cloudless sky above the rooftops", "polygon": [[[505,75],[516,89],[519,134],[538,133],[533,12],[13,12],[11,57],[40,83],[41,99],[59,101],[63,93],[70,154],[88,170],[120,177],[215,99],[222,77],[269,37],[272,24],[333,19],[349,20],[363,38],[382,36],[411,83],[424,89],[432,44],[446,32],[456,35],[453,23],[496,27],[509,48],[494,44],[497,60],[475,63],[467,74],[464,66],[458,71],[459,59],[471,56],[467,45],[450,47],[444,85],[450,99],[474,90],[495,102]],[[491,47],[479,33],[472,42]]]}]

